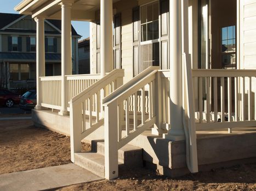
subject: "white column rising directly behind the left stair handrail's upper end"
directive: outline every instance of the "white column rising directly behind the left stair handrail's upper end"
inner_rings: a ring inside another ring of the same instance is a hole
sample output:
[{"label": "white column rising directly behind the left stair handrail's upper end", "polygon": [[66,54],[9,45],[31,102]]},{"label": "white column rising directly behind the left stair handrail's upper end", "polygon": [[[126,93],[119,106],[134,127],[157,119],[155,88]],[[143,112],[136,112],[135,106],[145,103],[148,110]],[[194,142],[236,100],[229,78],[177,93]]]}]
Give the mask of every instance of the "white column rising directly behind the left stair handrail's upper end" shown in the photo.
[{"label": "white column rising directly behind the left stair handrail's upper end", "polygon": [[100,0],[100,74],[113,70],[112,0]]}]

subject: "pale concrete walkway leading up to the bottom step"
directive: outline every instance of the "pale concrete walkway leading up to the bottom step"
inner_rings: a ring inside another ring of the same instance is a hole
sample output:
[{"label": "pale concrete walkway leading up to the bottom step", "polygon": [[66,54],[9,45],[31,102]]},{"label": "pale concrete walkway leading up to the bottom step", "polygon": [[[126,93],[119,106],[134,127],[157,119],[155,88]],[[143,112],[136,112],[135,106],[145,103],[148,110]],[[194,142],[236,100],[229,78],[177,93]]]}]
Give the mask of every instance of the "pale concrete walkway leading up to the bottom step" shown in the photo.
[{"label": "pale concrete walkway leading up to the bottom step", "polygon": [[0,190],[46,190],[102,180],[75,164],[12,172],[0,175]]}]

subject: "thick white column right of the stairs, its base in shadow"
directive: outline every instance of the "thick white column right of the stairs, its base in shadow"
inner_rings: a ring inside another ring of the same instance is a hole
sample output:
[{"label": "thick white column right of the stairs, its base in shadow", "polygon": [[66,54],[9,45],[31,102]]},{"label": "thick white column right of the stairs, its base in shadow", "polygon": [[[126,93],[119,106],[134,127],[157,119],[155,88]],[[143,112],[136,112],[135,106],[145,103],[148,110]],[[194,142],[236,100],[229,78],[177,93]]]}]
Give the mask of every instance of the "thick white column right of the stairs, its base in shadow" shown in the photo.
[{"label": "thick white column right of the stairs, its base in shadow", "polygon": [[170,1],[170,130],[163,138],[184,140],[182,122],[181,1]]}]

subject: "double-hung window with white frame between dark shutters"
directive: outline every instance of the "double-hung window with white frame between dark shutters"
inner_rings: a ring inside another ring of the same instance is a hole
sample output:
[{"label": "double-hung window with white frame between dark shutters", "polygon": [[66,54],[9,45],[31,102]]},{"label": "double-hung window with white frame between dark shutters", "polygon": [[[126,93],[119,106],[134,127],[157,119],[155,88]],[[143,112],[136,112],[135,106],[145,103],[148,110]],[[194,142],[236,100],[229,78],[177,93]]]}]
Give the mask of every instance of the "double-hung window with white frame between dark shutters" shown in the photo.
[{"label": "double-hung window with white frame between dark shutters", "polygon": [[140,7],[141,64],[140,71],[160,65],[159,4],[153,2]]}]

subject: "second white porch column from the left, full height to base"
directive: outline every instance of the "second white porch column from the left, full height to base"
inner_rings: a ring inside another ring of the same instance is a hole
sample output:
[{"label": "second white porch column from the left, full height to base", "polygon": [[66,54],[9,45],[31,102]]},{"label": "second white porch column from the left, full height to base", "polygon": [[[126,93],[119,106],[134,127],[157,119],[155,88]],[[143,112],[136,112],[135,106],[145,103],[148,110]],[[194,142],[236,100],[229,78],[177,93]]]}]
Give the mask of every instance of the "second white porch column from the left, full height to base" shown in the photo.
[{"label": "second white porch column from the left, full height to base", "polygon": [[71,1],[61,3],[61,110],[59,115],[69,115],[65,75],[72,74],[71,6]]}]

